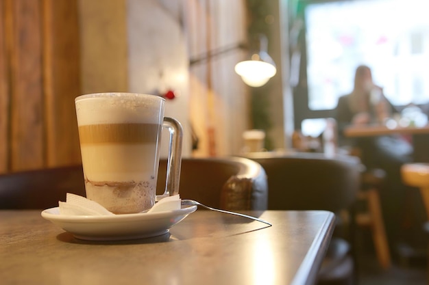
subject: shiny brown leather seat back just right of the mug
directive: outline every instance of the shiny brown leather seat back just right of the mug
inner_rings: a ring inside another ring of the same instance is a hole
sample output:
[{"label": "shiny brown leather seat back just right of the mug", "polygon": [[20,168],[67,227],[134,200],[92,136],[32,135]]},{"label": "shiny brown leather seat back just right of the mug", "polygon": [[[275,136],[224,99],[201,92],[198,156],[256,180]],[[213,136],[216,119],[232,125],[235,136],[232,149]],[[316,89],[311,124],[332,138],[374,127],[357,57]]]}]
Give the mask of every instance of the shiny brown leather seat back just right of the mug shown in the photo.
[{"label": "shiny brown leather seat back just right of the mug", "polygon": [[[160,160],[157,193],[165,188],[167,159]],[[180,198],[223,210],[266,210],[267,176],[256,162],[242,157],[184,158]]]}]

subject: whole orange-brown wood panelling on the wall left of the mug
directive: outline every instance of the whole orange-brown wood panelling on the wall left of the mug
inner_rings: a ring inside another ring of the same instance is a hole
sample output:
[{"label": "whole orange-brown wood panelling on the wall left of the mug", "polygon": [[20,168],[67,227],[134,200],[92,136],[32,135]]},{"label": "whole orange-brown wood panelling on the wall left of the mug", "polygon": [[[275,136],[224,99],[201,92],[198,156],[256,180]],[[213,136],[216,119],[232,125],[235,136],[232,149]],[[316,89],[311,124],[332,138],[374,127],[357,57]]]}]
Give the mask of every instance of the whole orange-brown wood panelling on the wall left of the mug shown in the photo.
[{"label": "whole orange-brown wood panelling on the wall left of the mug", "polygon": [[0,0],[0,173],[80,161],[75,0]]}]

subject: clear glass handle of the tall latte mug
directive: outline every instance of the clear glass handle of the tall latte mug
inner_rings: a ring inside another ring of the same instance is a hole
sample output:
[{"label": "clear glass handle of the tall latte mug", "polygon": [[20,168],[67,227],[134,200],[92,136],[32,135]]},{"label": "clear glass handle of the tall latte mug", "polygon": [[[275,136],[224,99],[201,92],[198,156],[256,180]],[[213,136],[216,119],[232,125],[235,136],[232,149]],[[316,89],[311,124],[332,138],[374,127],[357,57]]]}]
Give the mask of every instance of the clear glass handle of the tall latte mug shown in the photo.
[{"label": "clear glass handle of the tall latte mug", "polygon": [[179,121],[165,117],[163,127],[170,133],[169,156],[167,158],[167,179],[162,197],[179,194],[180,167],[182,167],[183,128]]}]

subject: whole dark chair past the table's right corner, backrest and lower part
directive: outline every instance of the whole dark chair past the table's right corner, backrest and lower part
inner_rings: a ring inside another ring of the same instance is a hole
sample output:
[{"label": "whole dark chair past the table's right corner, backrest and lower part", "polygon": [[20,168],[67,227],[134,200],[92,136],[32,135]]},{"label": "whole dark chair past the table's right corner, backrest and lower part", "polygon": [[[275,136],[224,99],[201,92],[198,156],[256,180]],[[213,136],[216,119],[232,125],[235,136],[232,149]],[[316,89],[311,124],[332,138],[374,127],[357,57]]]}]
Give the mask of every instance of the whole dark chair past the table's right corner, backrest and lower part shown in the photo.
[{"label": "whole dark chair past the table's right corner, backrest and lower part", "polygon": [[[260,163],[267,172],[269,210],[325,210],[336,214],[348,210],[350,212],[346,213],[352,213],[360,187],[360,161],[356,157],[269,152],[246,157]],[[343,223],[340,218],[337,221],[338,229]],[[332,238],[319,271],[318,284],[353,284],[356,281],[356,260],[351,254],[353,228],[351,225]]]}]

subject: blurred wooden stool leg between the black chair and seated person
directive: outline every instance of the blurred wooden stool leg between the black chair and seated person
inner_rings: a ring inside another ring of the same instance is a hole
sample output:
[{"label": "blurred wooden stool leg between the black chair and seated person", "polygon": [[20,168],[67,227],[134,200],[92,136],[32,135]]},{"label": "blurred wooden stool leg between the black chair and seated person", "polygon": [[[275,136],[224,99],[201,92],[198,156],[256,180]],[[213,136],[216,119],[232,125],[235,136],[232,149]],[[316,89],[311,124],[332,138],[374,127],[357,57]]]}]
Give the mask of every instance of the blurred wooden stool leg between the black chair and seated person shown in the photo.
[{"label": "blurred wooden stool leg between the black chair and seated person", "polygon": [[356,223],[358,226],[371,228],[378,262],[382,268],[387,269],[391,266],[391,256],[378,193],[385,175],[382,169],[371,169],[361,175],[362,190],[358,192],[358,200],[365,202],[367,211],[356,214]]}]

